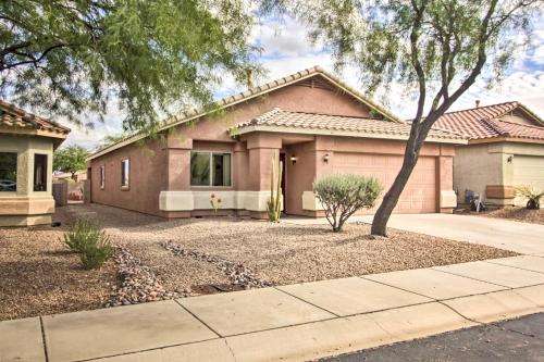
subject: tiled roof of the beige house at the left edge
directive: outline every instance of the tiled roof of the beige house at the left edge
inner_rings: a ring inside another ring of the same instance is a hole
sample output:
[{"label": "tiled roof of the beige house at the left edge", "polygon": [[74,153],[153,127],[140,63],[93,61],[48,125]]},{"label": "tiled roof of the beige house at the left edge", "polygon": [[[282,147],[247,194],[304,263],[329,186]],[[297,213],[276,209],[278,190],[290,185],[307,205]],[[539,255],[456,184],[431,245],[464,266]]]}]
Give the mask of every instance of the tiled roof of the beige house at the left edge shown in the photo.
[{"label": "tiled roof of the beige house at the left edge", "polygon": [[14,128],[34,128],[52,133],[69,134],[70,128],[50,120],[42,118],[11,103],[0,100],[0,126]]}]

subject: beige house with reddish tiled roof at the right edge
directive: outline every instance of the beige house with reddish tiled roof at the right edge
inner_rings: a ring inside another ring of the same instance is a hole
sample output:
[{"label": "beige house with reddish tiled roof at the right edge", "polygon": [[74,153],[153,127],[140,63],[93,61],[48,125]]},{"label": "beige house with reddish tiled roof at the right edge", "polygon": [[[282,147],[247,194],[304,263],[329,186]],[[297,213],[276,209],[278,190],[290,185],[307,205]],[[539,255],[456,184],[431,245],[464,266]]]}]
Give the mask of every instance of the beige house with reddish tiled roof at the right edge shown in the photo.
[{"label": "beige house with reddish tiled roof at the right edge", "polygon": [[[478,103],[477,103],[478,104]],[[544,189],[544,121],[519,102],[449,112],[436,127],[470,137],[456,149],[454,188],[459,202],[466,190],[487,203],[524,205],[516,187]]]}]

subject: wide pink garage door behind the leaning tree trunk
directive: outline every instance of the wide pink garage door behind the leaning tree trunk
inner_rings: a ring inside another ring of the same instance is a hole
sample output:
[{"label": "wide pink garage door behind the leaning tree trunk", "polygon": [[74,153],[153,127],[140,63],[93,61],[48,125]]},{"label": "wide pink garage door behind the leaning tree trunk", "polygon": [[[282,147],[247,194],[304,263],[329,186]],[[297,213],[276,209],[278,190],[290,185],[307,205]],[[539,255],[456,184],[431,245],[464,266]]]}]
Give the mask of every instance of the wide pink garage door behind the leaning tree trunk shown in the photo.
[{"label": "wide pink garage door behind the leaning tree trunk", "polygon": [[[376,177],[382,182],[385,192],[393,184],[401,164],[403,157],[400,155],[335,153],[333,168],[335,173]],[[394,212],[436,212],[436,195],[435,158],[422,157],[419,159]]]}]

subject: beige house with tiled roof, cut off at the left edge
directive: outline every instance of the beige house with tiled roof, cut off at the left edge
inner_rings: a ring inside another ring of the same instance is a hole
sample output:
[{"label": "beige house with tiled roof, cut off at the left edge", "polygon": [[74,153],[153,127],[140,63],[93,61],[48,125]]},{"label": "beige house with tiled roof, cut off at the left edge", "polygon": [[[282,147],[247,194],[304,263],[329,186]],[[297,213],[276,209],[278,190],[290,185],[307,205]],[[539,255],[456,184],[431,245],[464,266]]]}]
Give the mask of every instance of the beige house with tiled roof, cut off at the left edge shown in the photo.
[{"label": "beige house with tiled roof, cut off at the left edge", "polygon": [[69,133],[0,101],[0,226],[51,223],[53,150]]}]

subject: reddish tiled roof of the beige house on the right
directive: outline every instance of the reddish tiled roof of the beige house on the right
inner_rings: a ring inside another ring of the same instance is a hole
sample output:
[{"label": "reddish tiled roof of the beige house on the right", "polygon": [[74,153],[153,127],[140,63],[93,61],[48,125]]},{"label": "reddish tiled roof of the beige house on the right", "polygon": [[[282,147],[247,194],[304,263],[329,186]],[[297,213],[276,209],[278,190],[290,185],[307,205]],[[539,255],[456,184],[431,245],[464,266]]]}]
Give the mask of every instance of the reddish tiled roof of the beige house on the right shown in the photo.
[{"label": "reddish tiled roof of the beige house on the right", "polygon": [[[523,125],[500,120],[502,116],[515,110],[520,110],[536,123],[542,123],[543,126]],[[544,140],[544,122],[519,102],[448,112],[436,121],[435,127],[453,130],[471,139],[509,137]]]}]

